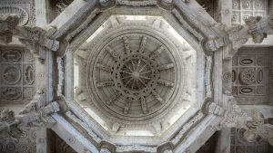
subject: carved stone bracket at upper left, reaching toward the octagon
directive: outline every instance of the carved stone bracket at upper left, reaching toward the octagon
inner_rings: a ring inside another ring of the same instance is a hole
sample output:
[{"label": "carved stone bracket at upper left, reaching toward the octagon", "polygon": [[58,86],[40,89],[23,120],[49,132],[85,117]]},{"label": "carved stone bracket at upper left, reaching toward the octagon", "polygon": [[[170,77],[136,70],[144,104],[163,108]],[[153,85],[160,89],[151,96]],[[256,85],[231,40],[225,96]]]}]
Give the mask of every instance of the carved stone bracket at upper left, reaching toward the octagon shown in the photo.
[{"label": "carved stone bracket at upper left, reaching toward the octagon", "polygon": [[50,38],[56,32],[55,27],[20,26],[18,24],[19,17],[16,15],[0,16],[0,43],[11,43],[12,36],[15,36],[42,60],[45,59],[45,51],[59,50],[60,43]]}]

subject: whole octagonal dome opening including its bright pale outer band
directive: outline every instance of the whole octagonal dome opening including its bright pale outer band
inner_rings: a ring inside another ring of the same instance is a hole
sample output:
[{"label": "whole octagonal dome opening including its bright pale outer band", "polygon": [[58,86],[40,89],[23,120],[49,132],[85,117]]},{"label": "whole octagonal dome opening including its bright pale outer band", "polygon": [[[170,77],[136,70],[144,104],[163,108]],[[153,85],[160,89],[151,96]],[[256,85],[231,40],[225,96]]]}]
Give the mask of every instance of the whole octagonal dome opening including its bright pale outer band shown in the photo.
[{"label": "whole octagonal dome opening including its bright pale outer band", "polygon": [[162,17],[112,15],[76,50],[75,101],[108,140],[155,145],[197,112],[196,63]]}]

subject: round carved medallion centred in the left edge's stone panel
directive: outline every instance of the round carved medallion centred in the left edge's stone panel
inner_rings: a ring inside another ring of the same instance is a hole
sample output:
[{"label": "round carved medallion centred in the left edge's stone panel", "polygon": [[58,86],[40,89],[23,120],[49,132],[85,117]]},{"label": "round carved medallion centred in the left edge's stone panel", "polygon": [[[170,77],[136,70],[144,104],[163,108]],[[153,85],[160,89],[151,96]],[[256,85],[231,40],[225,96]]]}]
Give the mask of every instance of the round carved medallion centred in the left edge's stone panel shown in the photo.
[{"label": "round carved medallion centred in the left edge's stone panel", "polygon": [[21,72],[16,66],[7,66],[4,69],[3,79],[6,84],[15,84],[20,81]]}]

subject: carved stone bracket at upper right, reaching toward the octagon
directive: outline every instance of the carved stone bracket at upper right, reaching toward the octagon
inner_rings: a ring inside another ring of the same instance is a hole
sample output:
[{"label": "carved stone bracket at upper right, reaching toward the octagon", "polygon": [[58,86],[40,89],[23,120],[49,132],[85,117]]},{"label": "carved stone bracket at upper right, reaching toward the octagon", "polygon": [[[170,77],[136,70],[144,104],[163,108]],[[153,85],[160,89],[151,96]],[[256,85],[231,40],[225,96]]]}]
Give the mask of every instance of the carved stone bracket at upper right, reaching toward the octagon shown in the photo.
[{"label": "carved stone bracket at upper right, reaching toward the octagon", "polygon": [[260,17],[249,17],[245,20],[246,25],[238,25],[230,29],[221,27],[212,27],[219,33],[218,37],[203,40],[201,48],[204,53],[211,55],[220,48],[227,46],[229,48],[228,56],[232,57],[238,49],[253,38],[254,43],[262,43],[267,33],[273,31],[273,14],[261,19]]}]

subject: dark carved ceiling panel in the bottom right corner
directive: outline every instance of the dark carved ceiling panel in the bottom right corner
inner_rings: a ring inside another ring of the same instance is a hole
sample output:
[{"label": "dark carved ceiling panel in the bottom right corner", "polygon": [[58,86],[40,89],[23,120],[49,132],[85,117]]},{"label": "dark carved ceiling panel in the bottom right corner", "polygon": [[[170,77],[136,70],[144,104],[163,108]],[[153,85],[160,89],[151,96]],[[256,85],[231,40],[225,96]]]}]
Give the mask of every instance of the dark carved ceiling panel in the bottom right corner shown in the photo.
[{"label": "dark carved ceiling panel in the bottom right corner", "polygon": [[230,138],[230,153],[268,153],[268,142],[258,139],[248,142],[243,137],[244,129],[232,129]]}]

